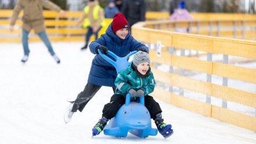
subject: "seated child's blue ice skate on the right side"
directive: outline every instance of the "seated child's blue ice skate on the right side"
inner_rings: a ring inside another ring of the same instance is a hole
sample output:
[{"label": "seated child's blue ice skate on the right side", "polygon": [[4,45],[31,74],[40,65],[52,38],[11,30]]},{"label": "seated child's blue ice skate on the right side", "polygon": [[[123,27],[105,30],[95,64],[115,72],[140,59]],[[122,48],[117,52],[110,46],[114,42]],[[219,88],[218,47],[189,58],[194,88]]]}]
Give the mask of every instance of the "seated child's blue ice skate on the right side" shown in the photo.
[{"label": "seated child's blue ice skate on the right side", "polygon": [[169,138],[169,136],[173,134],[172,125],[163,123],[161,113],[157,114],[157,118],[155,118],[155,124],[157,125],[157,129],[163,138]]}]

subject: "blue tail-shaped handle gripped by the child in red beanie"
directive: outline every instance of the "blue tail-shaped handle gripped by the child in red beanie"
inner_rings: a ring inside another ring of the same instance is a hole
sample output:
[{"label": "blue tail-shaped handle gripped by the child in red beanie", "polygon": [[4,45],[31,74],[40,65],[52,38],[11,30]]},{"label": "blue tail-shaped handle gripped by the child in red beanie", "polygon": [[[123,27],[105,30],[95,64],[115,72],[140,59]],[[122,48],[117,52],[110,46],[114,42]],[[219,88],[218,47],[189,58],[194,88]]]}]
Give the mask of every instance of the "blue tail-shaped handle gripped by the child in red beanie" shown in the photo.
[{"label": "blue tail-shaped handle gripped by the child in red beanie", "polygon": [[107,55],[104,55],[101,51],[98,51],[98,52],[99,52],[99,55],[101,55],[101,57],[103,57],[103,59],[106,60],[106,62],[111,63],[116,68],[116,72],[118,73],[121,70],[125,70],[127,66],[131,64],[131,62],[128,62],[128,59],[131,55],[134,55],[134,53],[136,53],[137,51],[130,52],[125,57],[116,56],[115,53],[108,51],[108,55],[113,57],[115,61],[109,58]]}]

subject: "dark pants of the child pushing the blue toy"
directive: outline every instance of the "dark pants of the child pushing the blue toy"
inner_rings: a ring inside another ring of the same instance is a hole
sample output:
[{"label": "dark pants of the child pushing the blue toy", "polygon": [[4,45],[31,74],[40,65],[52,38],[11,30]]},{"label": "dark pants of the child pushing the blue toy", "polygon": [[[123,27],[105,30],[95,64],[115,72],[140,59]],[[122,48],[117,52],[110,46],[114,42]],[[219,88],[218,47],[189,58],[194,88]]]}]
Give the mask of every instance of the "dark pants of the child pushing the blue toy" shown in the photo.
[{"label": "dark pants of the child pushing the blue toy", "polygon": [[[93,98],[93,96],[99,91],[101,85],[94,85],[94,84],[86,84],[84,87],[84,91],[80,92],[77,95],[76,100],[74,100],[74,106],[72,108],[72,112],[76,112],[79,110],[80,112],[83,111],[86,104]],[[115,92],[115,87],[112,88],[113,92]]]}]

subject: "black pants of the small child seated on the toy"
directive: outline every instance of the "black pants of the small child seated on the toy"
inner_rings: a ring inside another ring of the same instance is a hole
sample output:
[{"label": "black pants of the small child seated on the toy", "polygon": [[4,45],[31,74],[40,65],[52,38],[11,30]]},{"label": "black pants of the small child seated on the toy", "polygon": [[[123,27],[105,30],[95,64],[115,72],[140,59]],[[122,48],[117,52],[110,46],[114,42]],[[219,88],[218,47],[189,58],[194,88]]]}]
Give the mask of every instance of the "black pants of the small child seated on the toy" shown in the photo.
[{"label": "black pants of the small child seated on the toy", "polygon": [[[150,111],[151,118],[155,119],[158,113],[162,113],[161,107],[158,102],[150,95],[144,97],[145,107]],[[125,96],[114,94],[109,103],[107,103],[102,110],[102,117],[109,120],[116,116],[120,107],[125,104]]]}]

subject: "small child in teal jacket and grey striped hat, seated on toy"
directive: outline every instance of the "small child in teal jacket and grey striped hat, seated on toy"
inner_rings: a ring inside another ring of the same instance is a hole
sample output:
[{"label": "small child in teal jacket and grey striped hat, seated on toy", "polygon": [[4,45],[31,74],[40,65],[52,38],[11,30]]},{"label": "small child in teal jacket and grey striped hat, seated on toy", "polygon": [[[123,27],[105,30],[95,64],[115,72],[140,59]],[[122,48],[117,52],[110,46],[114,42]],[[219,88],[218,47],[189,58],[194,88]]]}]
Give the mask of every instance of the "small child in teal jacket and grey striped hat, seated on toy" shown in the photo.
[{"label": "small child in teal jacket and grey striped hat, seated on toy", "polygon": [[[93,136],[103,131],[108,120],[116,116],[120,107],[125,104],[126,95],[130,93],[131,100],[136,100],[136,96],[144,96],[145,107],[150,112],[150,116],[155,120],[157,129],[164,138],[173,134],[172,125],[163,123],[162,110],[154,98],[148,94],[154,91],[155,80],[150,69],[150,57],[147,52],[138,51],[133,56],[133,63],[118,73],[115,80],[116,92],[106,103],[102,110],[102,118],[93,128]],[[130,120],[132,121],[132,119]]]}]

